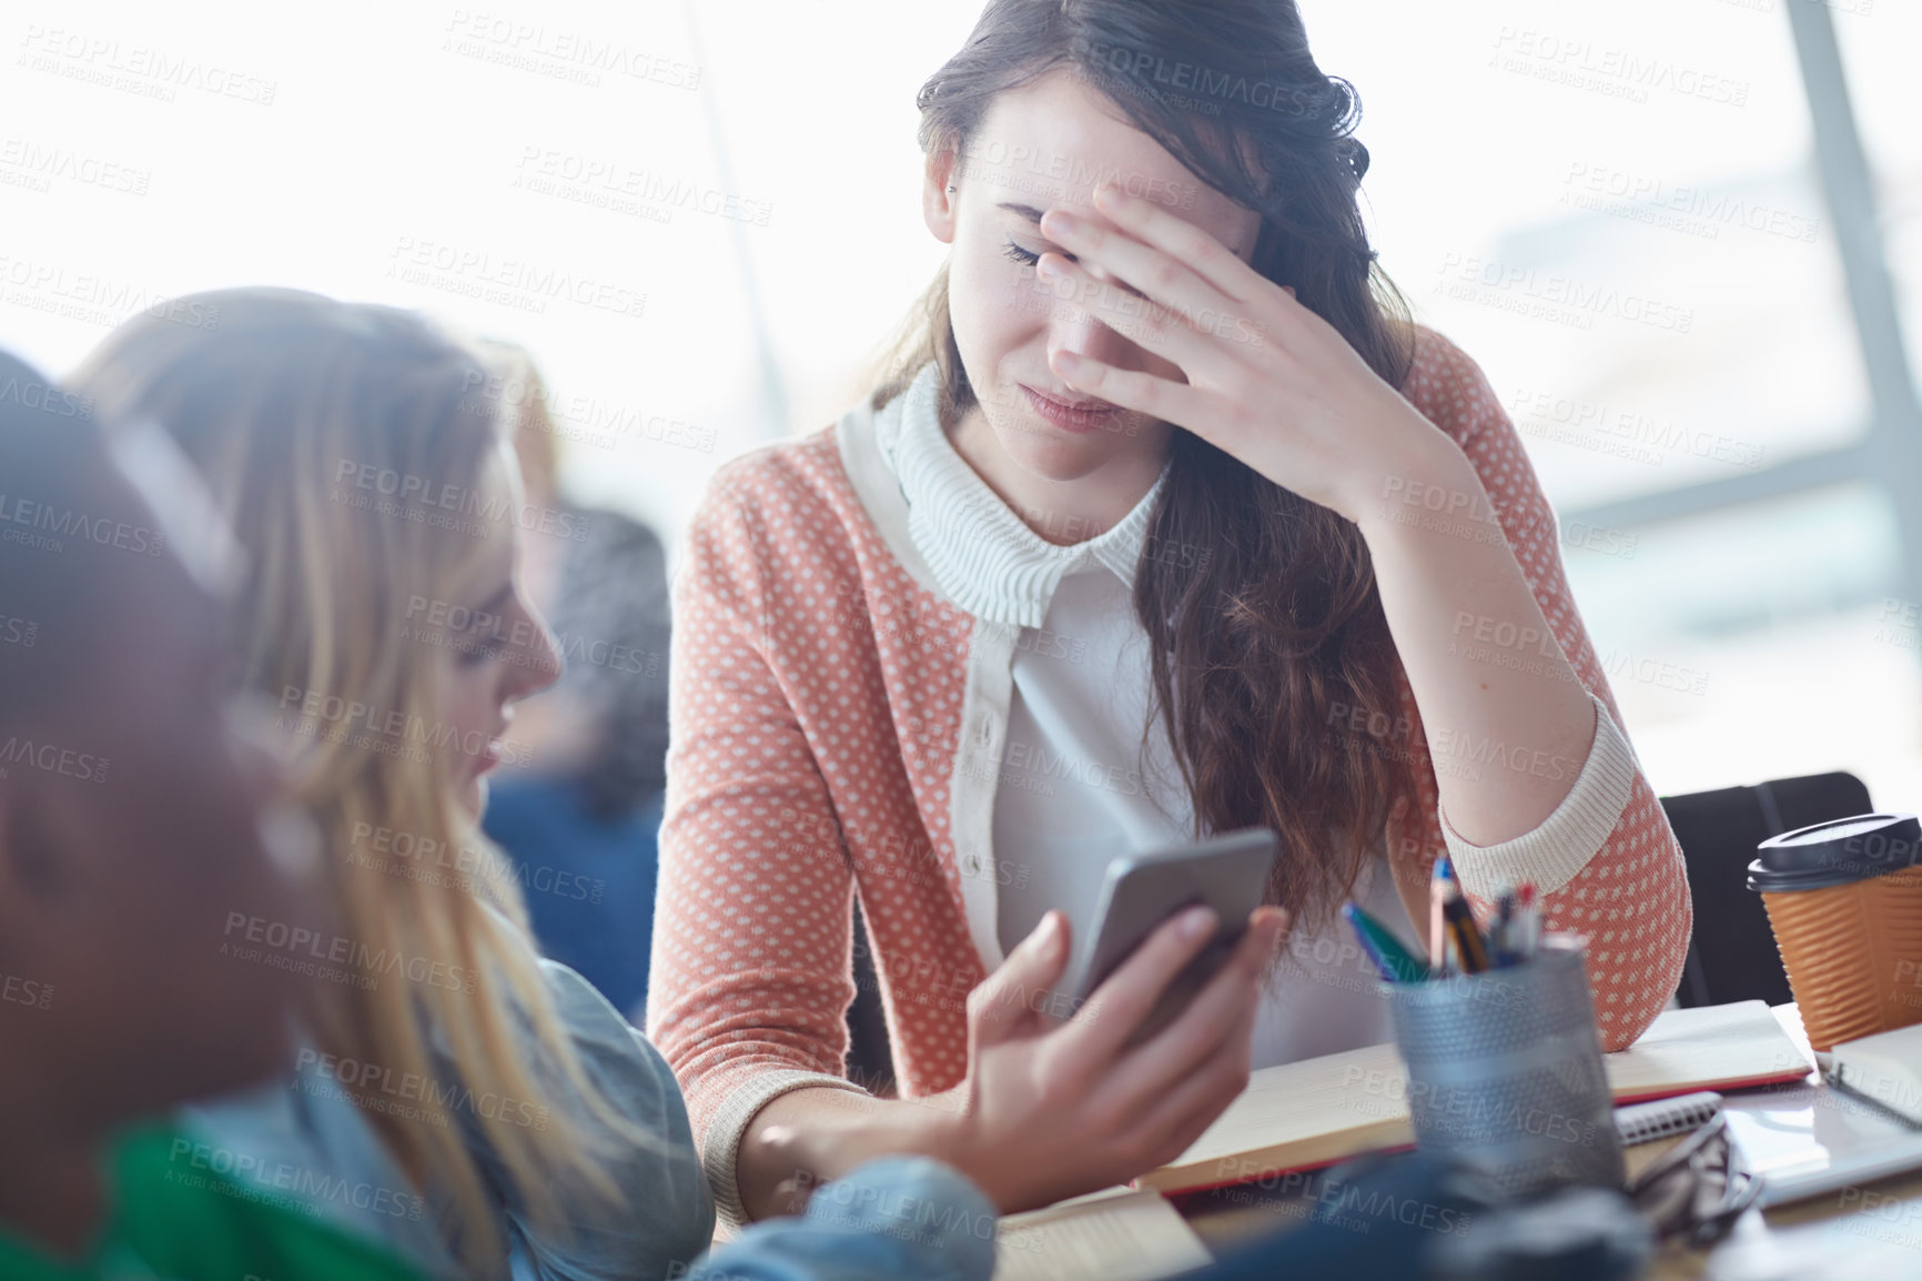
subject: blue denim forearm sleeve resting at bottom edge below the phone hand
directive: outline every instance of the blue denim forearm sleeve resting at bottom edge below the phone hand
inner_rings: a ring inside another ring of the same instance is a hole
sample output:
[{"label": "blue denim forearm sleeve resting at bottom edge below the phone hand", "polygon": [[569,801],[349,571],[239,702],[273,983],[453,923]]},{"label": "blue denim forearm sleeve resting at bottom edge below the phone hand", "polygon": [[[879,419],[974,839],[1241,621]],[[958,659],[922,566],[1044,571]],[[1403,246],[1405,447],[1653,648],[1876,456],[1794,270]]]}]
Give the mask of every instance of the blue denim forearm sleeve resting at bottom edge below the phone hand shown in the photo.
[{"label": "blue denim forearm sleeve resting at bottom edge below the phone hand", "polygon": [[755,1223],[688,1281],[988,1281],[996,1221],[951,1166],[890,1156],[815,1189],[805,1218]]}]

